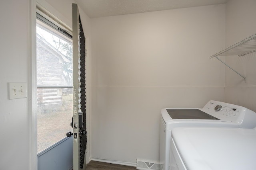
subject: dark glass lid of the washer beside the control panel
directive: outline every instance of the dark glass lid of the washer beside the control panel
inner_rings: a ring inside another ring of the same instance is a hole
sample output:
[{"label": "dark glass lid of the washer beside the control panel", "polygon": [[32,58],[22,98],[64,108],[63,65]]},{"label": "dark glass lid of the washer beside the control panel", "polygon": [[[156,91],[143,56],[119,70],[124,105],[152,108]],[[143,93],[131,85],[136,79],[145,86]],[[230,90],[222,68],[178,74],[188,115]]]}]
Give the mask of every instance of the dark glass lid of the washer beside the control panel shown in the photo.
[{"label": "dark glass lid of the washer beside the control panel", "polygon": [[166,109],[172,119],[216,119],[199,109]]}]

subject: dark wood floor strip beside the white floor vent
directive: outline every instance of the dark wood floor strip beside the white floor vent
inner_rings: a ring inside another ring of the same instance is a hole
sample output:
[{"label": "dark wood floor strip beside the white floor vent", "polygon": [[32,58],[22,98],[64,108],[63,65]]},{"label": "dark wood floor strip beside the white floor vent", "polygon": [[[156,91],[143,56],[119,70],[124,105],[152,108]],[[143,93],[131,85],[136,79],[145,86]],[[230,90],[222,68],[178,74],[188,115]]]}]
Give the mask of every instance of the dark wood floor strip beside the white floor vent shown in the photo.
[{"label": "dark wood floor strip beside the white floor vent", "polygon": [[89,164],[86,165],[86,170],[136,170],[136,167],[109,164],[92,160],[89,162]]}]

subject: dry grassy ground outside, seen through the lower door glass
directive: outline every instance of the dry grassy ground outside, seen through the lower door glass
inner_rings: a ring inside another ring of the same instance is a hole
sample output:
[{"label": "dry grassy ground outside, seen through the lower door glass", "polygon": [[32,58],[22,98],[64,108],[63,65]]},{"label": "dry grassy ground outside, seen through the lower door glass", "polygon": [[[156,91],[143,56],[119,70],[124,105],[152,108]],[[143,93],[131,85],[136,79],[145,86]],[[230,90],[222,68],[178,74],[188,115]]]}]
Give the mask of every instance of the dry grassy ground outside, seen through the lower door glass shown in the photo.
[{"label": "dry grassy ground outside, seen through the lower door glass", "polygon": [[37,131],[38,153],[66,137],[73,116],[73,95],[62,96],[62,107],[42,110],[38,108]]}]

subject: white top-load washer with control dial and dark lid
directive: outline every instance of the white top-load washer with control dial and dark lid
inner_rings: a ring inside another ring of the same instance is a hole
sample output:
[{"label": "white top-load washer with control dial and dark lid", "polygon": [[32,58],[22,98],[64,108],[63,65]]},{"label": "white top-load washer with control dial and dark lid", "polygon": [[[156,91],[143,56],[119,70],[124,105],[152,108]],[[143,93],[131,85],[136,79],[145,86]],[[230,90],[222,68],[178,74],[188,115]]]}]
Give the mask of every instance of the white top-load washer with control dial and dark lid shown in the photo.
[{"label": "white top-load washer with control dial and dark lid", "polygon": [[169,170],[171,132],[175,127],[256,127],[256,113],[242,106],[210,100],[202,109],[165,108],[160,120],[160,170]]}]

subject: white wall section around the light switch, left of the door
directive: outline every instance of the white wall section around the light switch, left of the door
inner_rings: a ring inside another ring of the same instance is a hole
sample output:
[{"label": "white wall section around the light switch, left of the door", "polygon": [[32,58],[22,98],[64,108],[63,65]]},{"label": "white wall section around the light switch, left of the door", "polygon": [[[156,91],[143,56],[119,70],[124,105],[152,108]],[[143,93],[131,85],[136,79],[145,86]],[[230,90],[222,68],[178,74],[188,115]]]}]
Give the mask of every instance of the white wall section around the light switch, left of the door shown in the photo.
[{"label": "white wall section around the light switch, left of the door", "polygon": [[7,90],[30,79],[30,1],[1,1],[0,25],[0,169],[30,170],[31,98],[8,100]]}]

